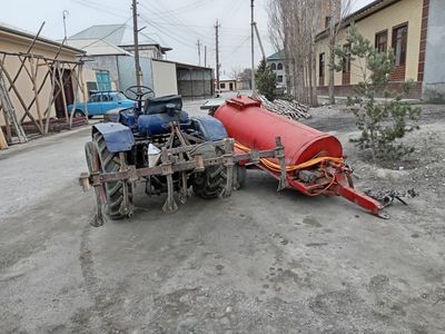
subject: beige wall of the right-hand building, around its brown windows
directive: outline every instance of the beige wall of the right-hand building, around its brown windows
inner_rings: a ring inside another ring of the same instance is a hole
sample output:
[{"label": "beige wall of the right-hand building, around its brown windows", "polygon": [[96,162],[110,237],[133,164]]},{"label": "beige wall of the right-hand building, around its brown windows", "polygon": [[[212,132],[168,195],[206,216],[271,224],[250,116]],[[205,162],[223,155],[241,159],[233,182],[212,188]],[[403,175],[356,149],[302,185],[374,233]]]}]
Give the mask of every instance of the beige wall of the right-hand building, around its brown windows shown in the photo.
[{"label": "beige wall of the right-hand building, around its brown windows", "polygon": [[[444,0],[436,0],[442,1]],[[406,52],[406,67],[405,80],[413,79],[417,81],[418,72],[418,58],[419,58],[419,40],[421,40],[421,24],[422,24],[422,0],[403,0],[398,1],[358,22],[355,23],[357,30],[367,38],[373,45],[375,42],[376,32],[386,30],[388,31],[388,48],[392,47],[393,27],[404,22],[408,22],[407,36],[407,52]],[[444,16],[444,12],[437,14]],[[347,30],[339,31],[337,45],[343,46],[346,43]],[[328,39],[324,38],[317,41],[317,80],[319,73],[318,56],[325,52],[325,86],[328,84]],[[363,81],[360,73],[359,60],[352,61],[350,85],[356,85]],[[342,72],[335,72],[335,85],[342,86]]]}]

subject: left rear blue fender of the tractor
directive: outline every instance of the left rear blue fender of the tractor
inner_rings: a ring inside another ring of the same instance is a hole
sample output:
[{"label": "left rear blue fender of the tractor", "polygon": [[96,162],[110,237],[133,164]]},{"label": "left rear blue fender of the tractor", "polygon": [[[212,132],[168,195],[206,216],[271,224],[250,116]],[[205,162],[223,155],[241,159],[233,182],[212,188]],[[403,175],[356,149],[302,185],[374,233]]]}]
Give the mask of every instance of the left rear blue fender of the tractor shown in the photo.
[{"label": "left rear blue fender of the tractor", "polygon": [[92,134],[102,134],[107,149],[111,153],[130,150],[135,145],[131,129],[120,122],[100,122],[92,126]]}]

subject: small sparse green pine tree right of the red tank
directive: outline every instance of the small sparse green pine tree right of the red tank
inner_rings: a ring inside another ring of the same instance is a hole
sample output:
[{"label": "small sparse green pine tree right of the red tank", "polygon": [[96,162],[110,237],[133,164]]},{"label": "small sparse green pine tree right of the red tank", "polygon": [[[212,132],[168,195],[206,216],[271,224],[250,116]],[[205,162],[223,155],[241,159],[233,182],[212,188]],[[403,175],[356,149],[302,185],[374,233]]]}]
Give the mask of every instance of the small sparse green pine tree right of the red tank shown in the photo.
[{"label": "small sparse green pine tree right of the red tank", "polygon": [[[354,140],[362,149],[370,149],[374,163],[377,159],[395,160],[413,151],[397,140],[406,132],[418,129],[421,108],[415,108],[402,101],[403,94],[390,91],[388,85],[389,73],[394,69],[394,52],[388,50],[379,52],[374,45],[364,38],[352,26],[347,41],[350,43],[350,53],[337,47],[338,63],[336,70],[340,71],[350,57],[352,66],[362,77],[355,88],[355,95],[348,97],[348,104],[355,106],[354,115],[360,137]],[[354,61],[358,59],[358,61]],[[358,63],[358,65],[357,65]],[[405,82],[404,94],[407,94],[412,84]],[[384,91],[385,101],[377,104],[375,96]]]}]

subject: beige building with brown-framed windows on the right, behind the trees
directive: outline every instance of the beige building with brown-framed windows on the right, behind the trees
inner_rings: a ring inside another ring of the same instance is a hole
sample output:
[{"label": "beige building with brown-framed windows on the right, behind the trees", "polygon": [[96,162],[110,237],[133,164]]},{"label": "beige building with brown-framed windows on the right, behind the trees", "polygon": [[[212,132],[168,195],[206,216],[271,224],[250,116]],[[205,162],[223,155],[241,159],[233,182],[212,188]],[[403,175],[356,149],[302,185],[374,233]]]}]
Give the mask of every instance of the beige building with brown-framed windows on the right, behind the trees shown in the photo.
[{"label": "beige building with brown-framed windows on the right, behind the trees", "polygon": [[[352,23],[375,48],[395,52],[389,77],[393,89],[406,80],[415,84],[413,98],[445,101],[445,1],[377,0],[345,18],[337,45],[347,50],[347,28]],[[316,38],[318,94],[327,95],[328,30]],[[335,73],[335,95],[346,96],[360,81],[359,60],[349,59]]]}]

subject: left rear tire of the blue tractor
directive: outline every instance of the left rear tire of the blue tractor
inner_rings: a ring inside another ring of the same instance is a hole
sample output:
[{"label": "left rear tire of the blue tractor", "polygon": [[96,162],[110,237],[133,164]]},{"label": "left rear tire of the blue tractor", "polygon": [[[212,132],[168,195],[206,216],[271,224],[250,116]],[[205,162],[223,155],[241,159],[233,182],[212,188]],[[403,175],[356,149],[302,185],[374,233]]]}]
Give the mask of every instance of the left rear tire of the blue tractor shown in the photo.
[{"label": "left rear tire of the blue tractor", "polygon": [[[110,153],[107,149],[103,136],[100,132],[95,132],[92,136],[97,145],[100,160],[100,168],[102,173],[115,173],[120,169],[120,159],[118,153]],[[106,212],[111,219],[122,219],[127,216],[122,213],[121,205],[123,203],[123,181],[112,181],[105,185],[105,193],[107,195]],[[132,203],[131,186],[128,184],[128,197],[130,204]]]}]

